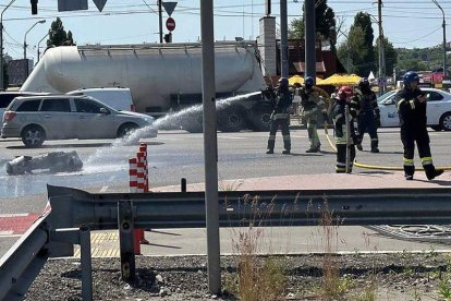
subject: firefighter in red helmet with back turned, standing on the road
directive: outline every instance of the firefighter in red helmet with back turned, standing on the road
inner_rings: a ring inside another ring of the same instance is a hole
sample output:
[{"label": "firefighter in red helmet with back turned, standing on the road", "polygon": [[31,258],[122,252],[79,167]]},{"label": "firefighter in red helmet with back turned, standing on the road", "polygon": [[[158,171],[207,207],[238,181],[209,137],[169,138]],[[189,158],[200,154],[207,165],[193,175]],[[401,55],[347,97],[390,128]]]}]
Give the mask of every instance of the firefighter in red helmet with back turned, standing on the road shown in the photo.
[{"label": "firefighter in red helmet with back turned, standing on the road", "polygon": [[[334,127],[334,139],[337,147],[337,165],[336,172],[346,172],[346,152],[349,150],[349,165],[348,172],[352,172],[353,161],[355,158],[354,147],[354,122],[353,119],[356,117],[356,110],[352,110],[351,98],[353,96],[352,88],[343,86],[337,93],[337,97],[333,99],[333,106],[331,111],[331,118]],[[348,107],[348,112],[346,112]],[[348,118],[346,118],[348,113]],[[346,127],[346,119],[349,120],[349,129]],[[349,130],[349,132],[348,132]]]}]

